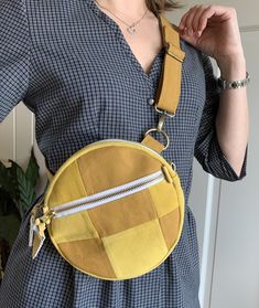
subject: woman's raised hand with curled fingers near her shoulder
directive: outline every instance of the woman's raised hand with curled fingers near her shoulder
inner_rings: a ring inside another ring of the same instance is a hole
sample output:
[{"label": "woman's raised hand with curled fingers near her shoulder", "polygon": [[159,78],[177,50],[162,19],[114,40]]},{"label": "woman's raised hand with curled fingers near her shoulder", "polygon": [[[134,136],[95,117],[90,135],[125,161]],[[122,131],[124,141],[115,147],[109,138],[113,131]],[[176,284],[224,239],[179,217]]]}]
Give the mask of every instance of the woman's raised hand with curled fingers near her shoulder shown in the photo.
[{"label": "woman's raised hand with curled fingers near her shoulder", "polygon": [[182,17],[179,28],[182,39],[213,56],[226,77],[229,65],[245,65],[234,8],[195,6]]}]

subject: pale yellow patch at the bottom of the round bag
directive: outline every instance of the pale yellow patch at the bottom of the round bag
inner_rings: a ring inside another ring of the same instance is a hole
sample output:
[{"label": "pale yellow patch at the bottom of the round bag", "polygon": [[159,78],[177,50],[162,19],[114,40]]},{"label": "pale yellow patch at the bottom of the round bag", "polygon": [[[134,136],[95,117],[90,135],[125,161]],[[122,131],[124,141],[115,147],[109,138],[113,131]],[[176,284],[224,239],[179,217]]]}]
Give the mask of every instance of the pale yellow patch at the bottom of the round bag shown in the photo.
[{"label": "pale yellow patch at the bottom of the round bag", "polygon": [[158,220],[102,238],[107,255],[119,277],[152,269],[168,253]]}]

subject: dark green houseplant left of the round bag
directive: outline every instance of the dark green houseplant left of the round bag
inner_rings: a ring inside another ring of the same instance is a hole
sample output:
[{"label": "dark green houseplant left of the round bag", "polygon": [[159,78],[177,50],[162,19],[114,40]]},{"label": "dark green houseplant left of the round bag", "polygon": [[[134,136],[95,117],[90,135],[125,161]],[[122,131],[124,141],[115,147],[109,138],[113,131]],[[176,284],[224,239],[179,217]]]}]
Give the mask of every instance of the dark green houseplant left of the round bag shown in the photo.
[{"label": "dark green houseplant left of the round bag", "polygon": [[26,169],[15,161],[0,161],[0,279],[25,212],[36,199],[40,178],[33,149]]}]

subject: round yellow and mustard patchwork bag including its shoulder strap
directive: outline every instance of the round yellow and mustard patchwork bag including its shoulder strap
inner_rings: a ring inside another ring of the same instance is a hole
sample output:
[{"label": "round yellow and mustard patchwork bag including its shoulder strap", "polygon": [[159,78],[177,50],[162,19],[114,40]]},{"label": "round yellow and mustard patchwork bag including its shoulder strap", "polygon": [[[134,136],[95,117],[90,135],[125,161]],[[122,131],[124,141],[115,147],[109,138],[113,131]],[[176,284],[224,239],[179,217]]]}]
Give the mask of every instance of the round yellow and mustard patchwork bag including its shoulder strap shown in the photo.
[{"label": "round yellow and mustard patchwork bag including its shoulder strap", "polygon": [[[40,252],[45,231],[75,268],[100,279],[139,277],[157,268],[177,244],[184,194],[175,166],[161,152],[169,146],[162,129],[175,115],[184,53],[179,33],[160,17],[166,54],[154,110],[158,127],[141,142],[100,140],[74,153],[51,179],[31,211],[30,246]],[[151,136],[161,134],[164,142]]]}]

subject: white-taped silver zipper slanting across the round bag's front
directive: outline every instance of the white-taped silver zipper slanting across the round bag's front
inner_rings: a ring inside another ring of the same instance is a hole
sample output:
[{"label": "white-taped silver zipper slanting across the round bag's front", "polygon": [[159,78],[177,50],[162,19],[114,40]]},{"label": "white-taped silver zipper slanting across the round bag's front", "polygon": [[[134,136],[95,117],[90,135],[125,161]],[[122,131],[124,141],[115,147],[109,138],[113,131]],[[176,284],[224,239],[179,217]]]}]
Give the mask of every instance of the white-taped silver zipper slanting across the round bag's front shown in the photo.
[{"label": "white-taped silver zipper slanting across the round bag's front", "polygon": [[[94,195],[86,197],[84,199],[79,199],[65,204],[57,205],[53,209],[54,211],[54,219],[58,219],[62,216],[66,216],[69,214],[78,213],[85,210],[94,209],[96,206],[100,206],[102,204],[112,202],[115,200],[121,199],[123,197],[130,195],[132,193],[139,192],[141,190],[144,190],[151,185],[154,185],[159,182],[164,180],[164,174],[160,170],[155,173],[152,173],[148,177],[138,179],[136,181],[132,181],[130,183],[120,185],[115,189],[110,189],[100,193],[96,193]],[[109,193],[111,192],[111,193]],[[109,194],[108,194],[109,193]],[[105,195],[105,197],[102,197]],[[99,197],[99,198],[98,198]],[[83,202],[83,200],[85,202]]]}]

